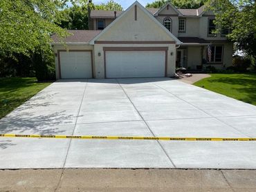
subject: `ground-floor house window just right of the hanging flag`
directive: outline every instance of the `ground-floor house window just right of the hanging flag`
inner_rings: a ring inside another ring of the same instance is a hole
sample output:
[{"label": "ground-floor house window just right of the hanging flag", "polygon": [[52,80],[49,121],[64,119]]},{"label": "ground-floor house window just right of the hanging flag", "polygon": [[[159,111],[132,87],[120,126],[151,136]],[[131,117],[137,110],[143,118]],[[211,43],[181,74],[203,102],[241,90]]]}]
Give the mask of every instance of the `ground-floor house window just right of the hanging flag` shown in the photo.
[{"label": "ground-floor house window just right of the hanging flag", "polygon": [[223,46],[208,46],[206,55],[208,63],[222,62]]}]

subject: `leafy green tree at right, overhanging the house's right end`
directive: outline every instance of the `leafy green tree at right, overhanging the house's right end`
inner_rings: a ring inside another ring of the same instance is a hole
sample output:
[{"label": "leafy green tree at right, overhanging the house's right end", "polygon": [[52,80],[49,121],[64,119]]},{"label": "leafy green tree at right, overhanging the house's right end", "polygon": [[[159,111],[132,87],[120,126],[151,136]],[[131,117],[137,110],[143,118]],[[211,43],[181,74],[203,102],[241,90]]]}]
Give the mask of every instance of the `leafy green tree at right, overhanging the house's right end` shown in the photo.
[{"label": "leafy green tree at right, overhanging the house's right end", "polygon": [[228,39],[236,48],[247,55],[256,57],[256,7],[253,0],[214,0],[208,3],[208,9],[216,15],[216,32],[229,28]]}]

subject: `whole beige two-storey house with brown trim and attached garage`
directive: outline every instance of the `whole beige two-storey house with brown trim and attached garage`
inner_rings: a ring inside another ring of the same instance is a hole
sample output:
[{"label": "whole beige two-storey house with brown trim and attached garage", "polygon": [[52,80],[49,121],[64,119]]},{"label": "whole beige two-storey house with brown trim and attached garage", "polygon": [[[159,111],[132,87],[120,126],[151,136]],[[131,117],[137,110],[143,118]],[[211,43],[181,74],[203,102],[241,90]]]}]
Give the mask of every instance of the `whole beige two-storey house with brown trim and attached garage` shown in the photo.
[{"label": "whole beige two-storey house with brown trim and attached garage", "polygon": [[90,30],[70,30],[67,50],[53,35],[57,79],[172,77],[180,66],[232,65],[228,30],[214,35],[214,15],[204,6],[146,9],[136,1],[124,12],[90,12]]}]

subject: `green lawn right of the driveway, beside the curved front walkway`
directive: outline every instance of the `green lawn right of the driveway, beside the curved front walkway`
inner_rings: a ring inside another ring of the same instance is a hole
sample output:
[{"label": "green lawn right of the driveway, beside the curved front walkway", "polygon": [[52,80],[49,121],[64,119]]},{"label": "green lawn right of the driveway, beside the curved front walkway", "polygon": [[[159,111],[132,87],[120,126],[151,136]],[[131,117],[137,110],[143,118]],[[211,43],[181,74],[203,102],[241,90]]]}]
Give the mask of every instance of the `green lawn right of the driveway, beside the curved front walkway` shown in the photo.
[{"label": "green lawn right of the driveway, beside the curved front walkway", "polygon": [[194,83],[242,102],[256,105],[256,74],[210,74]]}]

